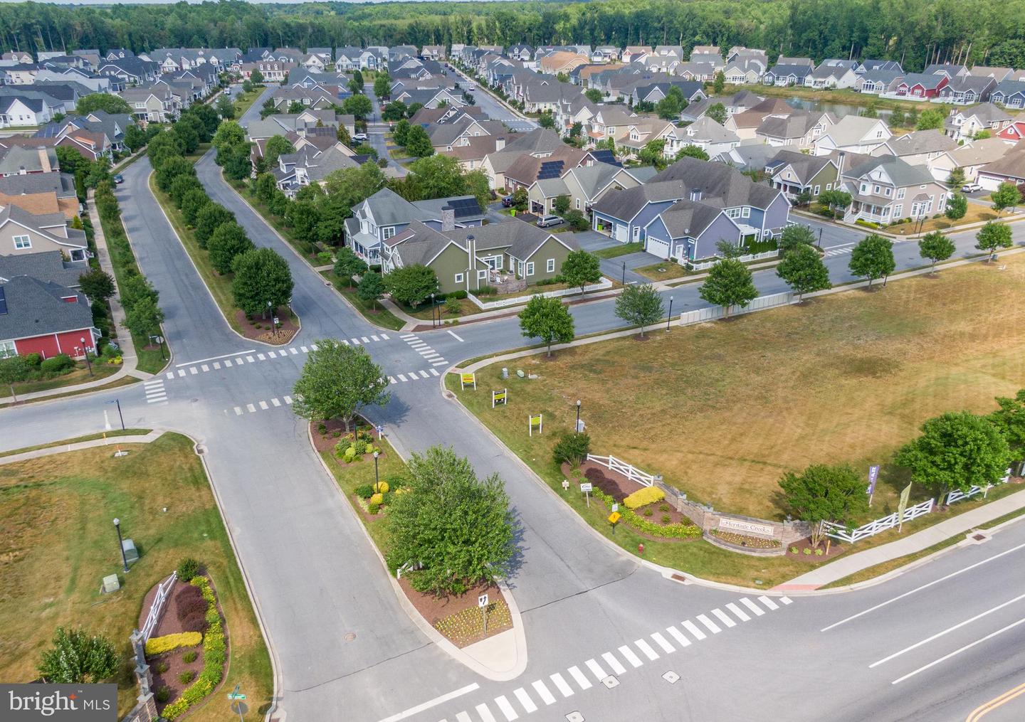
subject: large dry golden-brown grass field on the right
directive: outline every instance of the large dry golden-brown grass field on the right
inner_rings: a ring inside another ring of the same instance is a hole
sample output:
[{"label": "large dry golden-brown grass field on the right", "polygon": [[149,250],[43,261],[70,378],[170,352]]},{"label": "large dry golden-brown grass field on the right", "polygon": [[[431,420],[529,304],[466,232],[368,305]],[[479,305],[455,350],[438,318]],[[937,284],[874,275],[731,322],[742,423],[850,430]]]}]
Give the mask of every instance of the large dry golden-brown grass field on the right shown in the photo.
[{"label": "large dry golden-brown grass field on the right", "polygon": [[[1025,308],[1007,302],[1022,293],[1025,259],[1011,257],[1003,271],[973,264],[646,342],[533,356],[515,366],[540,379],[502,381],[509,408],[485,419],[523,455],[523,417],[544,412],[551,433],[535,437],[530,456],[546,459],[580,398],[593,453],[662,474],[695,501],[765,518],[785,513],[784,471],[879,463],[872,513],[883,515],[906,483],[887,462],[922,421],[991,410],[993,396],[1025,385]],[[479,372],[485,389],[503,364]],[[480,411],[479,395],[461,398]],[[928,497],[915,489],[915,498]]]}]

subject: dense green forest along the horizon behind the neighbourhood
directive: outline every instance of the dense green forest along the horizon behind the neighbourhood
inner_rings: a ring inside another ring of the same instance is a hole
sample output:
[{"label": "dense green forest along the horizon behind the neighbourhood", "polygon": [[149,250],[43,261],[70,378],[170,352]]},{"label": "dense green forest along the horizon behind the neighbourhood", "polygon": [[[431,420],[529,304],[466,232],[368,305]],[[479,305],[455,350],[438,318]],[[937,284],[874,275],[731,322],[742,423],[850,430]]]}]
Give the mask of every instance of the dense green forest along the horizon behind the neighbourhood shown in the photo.
[{"label": "dense green forest along the horizon behind the neighbourhood", "polygon": [[3,50],[342,45],[714,44],[1025,67],[1025,0],[604,0],[0,5]]}]

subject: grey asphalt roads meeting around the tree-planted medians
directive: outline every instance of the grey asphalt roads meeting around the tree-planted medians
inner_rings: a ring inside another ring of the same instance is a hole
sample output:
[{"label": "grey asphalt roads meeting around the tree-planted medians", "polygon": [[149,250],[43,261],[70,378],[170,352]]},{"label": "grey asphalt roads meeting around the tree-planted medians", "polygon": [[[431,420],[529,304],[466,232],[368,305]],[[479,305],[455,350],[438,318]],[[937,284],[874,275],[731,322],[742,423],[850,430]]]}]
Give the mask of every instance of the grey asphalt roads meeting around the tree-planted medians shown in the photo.
[{"label": "grey asphalt roads meeting around the tree-planted medians", "polygon": [[[271,348],[228,328],[149,194],[142,159],[126,169],[117,193],[167,315],[174,358],[154,382],[168,399],[148,404],[135,385],[3,410],[0,450],[102,430],[105,402],[115,397],[129,426],[196,438],[252,585],[290,720],[561,720],[574,711],[585,720],[956,719],[1021,682],[1025,525],[892,582],[790,597],[789,604],[665,580],[598,538],[442,396],[435,373],[447,364],[523,344],[516,318],[417,334],[429,350],[414,349],[413,339],[381,332],[345,305],[234,195],[209,158],[197,172],[254,243],[289,259],[299,336]],[[1019,243],[1023,236],[1016,225]],[[972,252],[971,232],[953,239],[957,255]],[[826,255],[834,283],[850,280],[844,248]],[[895,253],[899,268],[921,264],[914,243],[897,244]],[[783,290],[773,270],[754,275],[763,293]],[[674,311],[704,305],[697,285],[670,293]],[[571,311],[578,334],[619,324],[611,300]],[[504,479],[522,523],[522,556],[509,582],[530,661],[518,680],[482,680],[417,630],[311,451],[289,394],[309,346],[325,336],[365,345],[397,379],[392,401],[369,416],[399,449],[450,444],[478,473]],[[439,358],[447,364],[433,366]],[[348,633],[353,641],[344,640]],[[667,672],[680,679],[663,679]],[[600,681],[608,675],[616,678],[611,688]],[[450,696],[454,690],[462,693]],[[999,714],[1020,718],[1023,702]]]}]

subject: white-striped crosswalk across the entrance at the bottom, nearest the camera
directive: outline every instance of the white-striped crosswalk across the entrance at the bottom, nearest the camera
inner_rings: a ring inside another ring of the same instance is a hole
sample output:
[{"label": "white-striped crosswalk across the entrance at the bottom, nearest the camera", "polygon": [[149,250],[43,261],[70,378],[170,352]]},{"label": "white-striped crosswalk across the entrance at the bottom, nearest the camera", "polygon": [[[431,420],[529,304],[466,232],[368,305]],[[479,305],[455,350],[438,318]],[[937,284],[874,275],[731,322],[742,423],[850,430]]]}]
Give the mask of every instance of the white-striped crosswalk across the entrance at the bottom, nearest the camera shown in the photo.
[{"label": "white-striped crosswalk across the entrance at the bottom, nearest the camera", "polygon": [[[729,602],[723,607],[710,609],[707,614],[696,614],[694,619],[705,628],[707,633],[715,635],[734,627],[742,627],[744,623],[751,622],[752,619],[789,606],[792,602],[793,600],[789,597],[776,597],[775,599],[766,595],[754,599],[741,597],[736,602]],[[748,611],[754,617],[752,618]],[[713,622],[712,617],[716,621]],[[475,705],[471,710],[456,712],[454,719],[456,722],[512,722],[512,720],[529,716],[538,710],[549,708],[560,699],[568,699],[578,692],[594,688],[596,685],[612,689],[618,685],[619,675],[627,674],[629,670],[654,663],[656,660],[662,659],[663,655],[674,653],[678,649],[709,639],[707,633],[691,620],[686,620],[679,626],[670,625],[664,630],[648,635],[647,638],[624,644],[614,651],[596,654],[584,661],[582,665],[572,665],[565,670],[546,677],[542,676],[529,684],[517,687],[509,693],[499,694],[491,700],[482,702]],[[445,718],[441,722],[449,722],[449,720]]]}]

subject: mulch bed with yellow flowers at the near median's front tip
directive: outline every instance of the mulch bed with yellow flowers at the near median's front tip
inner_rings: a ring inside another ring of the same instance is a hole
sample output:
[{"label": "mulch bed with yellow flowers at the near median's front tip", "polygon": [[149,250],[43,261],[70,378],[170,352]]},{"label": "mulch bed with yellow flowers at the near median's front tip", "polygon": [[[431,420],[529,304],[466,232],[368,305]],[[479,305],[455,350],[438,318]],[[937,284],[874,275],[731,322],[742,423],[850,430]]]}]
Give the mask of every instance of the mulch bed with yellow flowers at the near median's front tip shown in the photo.
[{"label": "mulch bed with yellow flowers at the near median's front tip", "polygon": [[417,592],[406,577],[399,580],[399,586],[420,615],[457,647],[486,639],[482,614],[477,606],[477,598],[485,592],[489,602],[488,637],[512,628],[508,606],[496,585],[481,583],[457,597],[436,597]]}]

